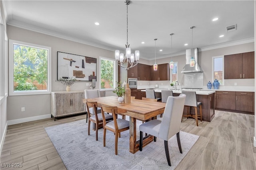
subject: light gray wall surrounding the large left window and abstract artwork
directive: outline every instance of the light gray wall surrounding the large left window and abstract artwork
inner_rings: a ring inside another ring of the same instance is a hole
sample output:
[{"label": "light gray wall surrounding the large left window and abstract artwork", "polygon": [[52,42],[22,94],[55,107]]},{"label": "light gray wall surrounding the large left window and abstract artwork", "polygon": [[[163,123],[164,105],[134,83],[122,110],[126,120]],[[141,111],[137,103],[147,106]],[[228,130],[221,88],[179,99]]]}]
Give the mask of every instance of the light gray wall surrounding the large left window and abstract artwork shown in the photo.
[{"label": "light gray wall surrounding the large left window and abstract artwork", "polygon": [[[76,43],[50,35],[21,29],[7,25],[8,39],[44,45],[52,47],[52,91],[65,91],[66,86],[62,85],[57,80],[57,51],[83,55],[97,59],[97,72],[99,77],[99,57],[114,59],[114,51],[108,51],[82,43]],[[71,91],[88,89],[86,83],[91,82],[76,82]],[[99,80],[97,79],[96,88],[99,88]],[[112,95],[112,92],[107,92],[106,95]],[[27,96],[8,96],[7,98],[7,120],[24,119],[28,117],[50,115],[50,94],[44,95],[27,95]],[[21,112],[21,107],[25,107],[25,111]]]}]

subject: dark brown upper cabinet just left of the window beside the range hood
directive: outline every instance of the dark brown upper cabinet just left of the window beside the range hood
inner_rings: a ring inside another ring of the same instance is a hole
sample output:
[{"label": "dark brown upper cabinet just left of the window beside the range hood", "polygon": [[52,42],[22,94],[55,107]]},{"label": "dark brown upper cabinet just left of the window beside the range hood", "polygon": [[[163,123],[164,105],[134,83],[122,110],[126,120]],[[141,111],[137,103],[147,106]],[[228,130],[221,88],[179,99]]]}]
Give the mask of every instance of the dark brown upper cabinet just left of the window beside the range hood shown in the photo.
[{"label": "dark brown upper cabinet just left of the window beside the range hood", "polygon": [[167,64],[158,64],[158,69],[154,70],[153,66],[150,67],[151,80],[170,80],[170,66]]}]

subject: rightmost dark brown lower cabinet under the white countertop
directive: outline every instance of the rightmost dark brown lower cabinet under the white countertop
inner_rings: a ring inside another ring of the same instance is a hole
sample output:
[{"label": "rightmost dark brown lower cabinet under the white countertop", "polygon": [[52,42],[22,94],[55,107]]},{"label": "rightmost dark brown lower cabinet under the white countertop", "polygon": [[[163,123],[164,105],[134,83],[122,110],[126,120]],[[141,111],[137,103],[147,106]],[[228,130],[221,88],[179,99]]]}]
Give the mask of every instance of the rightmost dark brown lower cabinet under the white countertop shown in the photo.
[{"label": "rightmost dark brown lower cabinet under the white countertop", "polygon": [[236,110],[253,112],[253,92],[236,92]]}]

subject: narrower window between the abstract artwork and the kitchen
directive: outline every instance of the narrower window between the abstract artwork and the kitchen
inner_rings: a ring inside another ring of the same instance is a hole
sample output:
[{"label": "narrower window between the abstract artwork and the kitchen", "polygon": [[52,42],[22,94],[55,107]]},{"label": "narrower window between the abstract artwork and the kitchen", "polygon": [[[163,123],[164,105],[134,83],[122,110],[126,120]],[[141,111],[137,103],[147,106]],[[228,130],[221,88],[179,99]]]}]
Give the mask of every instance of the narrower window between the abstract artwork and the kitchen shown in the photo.
[{"label": "narrower window between the abstract artwork and the kitchen", "polygon": [[100,89],[114,89],[115,82],[116,61],[100,57]]}]

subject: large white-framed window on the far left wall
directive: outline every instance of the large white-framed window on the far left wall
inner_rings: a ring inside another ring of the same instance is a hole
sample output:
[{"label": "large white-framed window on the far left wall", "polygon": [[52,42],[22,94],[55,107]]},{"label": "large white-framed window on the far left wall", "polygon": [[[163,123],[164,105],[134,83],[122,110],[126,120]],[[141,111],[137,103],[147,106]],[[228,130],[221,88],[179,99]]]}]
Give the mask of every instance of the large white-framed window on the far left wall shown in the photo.
[{"label": "large white-framed window on the far left wall", "polygon": [[9,41],[9,95],[51,92],[51,48]]}]

